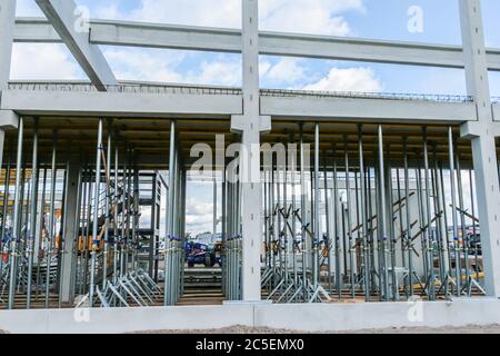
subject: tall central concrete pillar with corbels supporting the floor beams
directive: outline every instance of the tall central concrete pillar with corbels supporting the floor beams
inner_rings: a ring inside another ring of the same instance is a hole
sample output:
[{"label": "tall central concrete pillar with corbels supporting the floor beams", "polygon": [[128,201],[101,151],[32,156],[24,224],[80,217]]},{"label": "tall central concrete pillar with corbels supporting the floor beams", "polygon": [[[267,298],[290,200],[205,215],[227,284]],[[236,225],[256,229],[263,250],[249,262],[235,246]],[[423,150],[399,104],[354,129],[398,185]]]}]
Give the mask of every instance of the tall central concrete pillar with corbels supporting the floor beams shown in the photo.
[{"label": "tall central concrete pillar with corbels supporting the floor beams", "polygon": [[231,129],[242,135],[242,299],[259,301],[262,238],[260,132],[270,129],[270,119],[260,116],[258,0],[242,0],[242,14],[243,115],[232,117]]}]

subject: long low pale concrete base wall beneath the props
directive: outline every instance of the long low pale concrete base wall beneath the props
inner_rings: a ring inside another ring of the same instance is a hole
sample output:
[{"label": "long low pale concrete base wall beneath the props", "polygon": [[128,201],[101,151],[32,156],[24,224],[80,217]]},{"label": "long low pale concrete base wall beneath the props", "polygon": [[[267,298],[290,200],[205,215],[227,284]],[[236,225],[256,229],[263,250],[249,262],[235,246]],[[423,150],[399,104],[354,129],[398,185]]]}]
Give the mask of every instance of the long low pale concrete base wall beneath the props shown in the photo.
[{"label": "long low pale concrete base wall beneath the props", "polygon": [[302,332],[500,324],[500,300],[223,306],[0,312],[8,333],[132,333],[243,325]]}]

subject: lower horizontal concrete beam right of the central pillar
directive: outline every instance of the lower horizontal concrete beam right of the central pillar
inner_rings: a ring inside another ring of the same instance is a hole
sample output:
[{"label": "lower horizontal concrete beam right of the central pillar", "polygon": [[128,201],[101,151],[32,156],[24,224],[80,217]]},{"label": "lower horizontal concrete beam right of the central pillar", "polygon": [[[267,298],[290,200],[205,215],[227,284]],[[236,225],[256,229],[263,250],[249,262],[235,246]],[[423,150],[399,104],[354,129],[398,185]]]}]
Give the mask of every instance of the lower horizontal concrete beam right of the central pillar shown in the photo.
[{"label": "lower horizontal concrete beam right of the central pillar", "polygon": [[472,102],[314,97],[262,97],[261,115],[303,120],[461,123],[476,120]]}]

